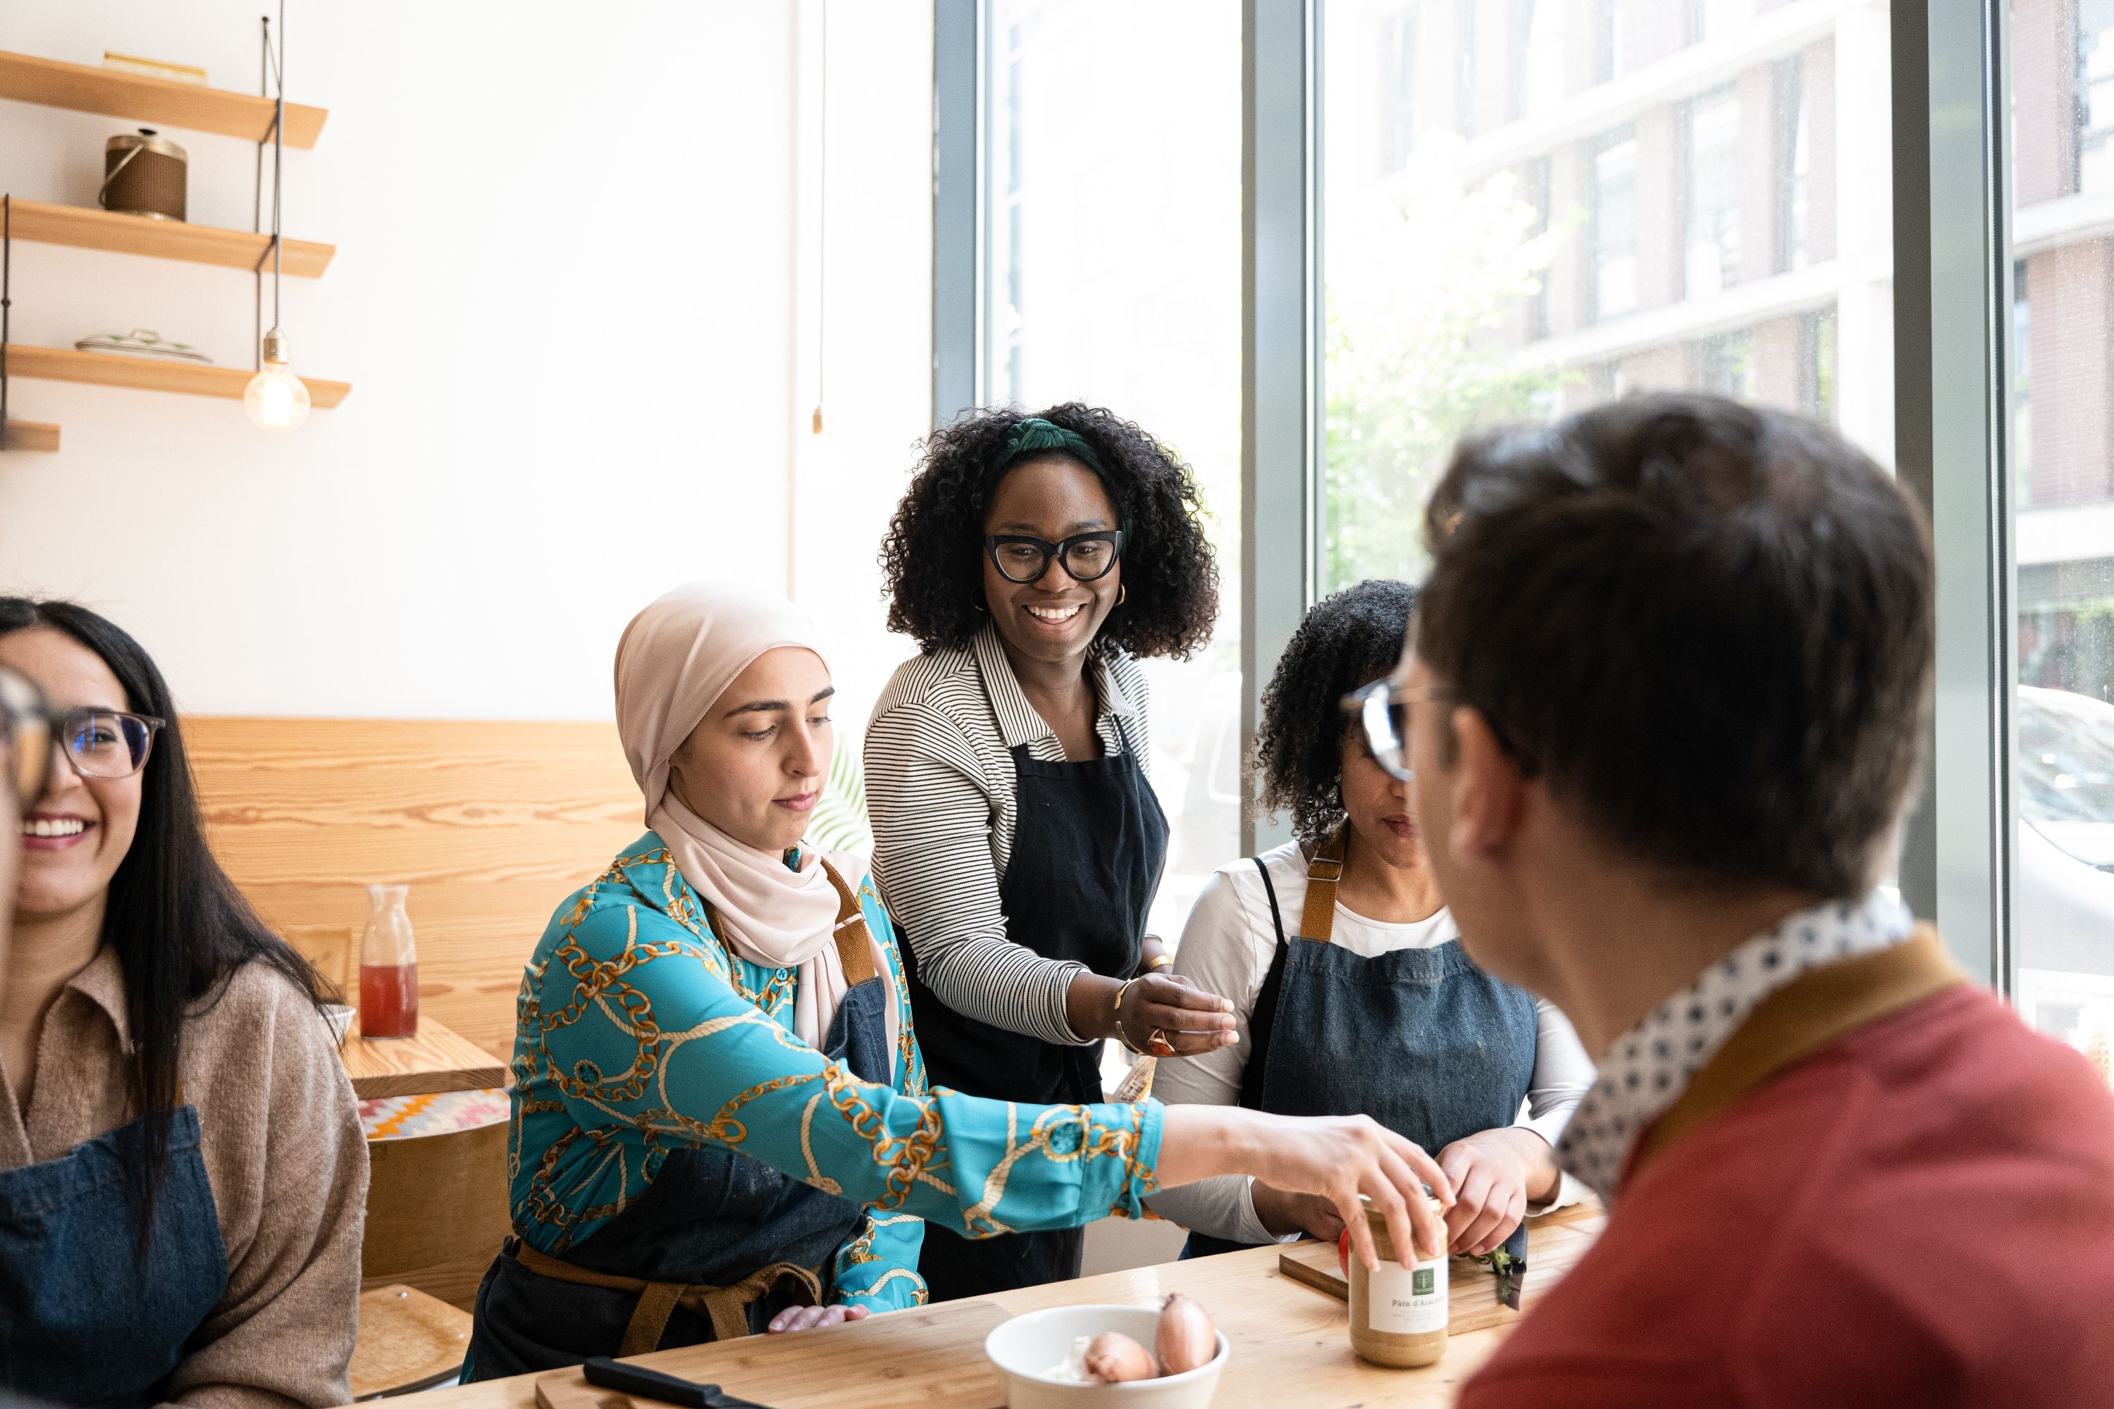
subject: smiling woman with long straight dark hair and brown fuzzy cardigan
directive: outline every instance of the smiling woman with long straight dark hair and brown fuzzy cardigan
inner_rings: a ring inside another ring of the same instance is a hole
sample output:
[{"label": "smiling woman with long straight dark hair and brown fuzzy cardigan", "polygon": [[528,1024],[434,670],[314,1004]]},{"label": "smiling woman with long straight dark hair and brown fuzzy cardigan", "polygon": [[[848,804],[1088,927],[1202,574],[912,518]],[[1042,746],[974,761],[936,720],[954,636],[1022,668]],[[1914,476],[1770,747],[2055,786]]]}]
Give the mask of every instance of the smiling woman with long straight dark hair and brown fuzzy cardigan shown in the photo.
[{"label": "smiling woman with long straight dark hair and brown fuzzy cardigan", "polygon": [[345,1403],[368,1162],[321,982],[205,845],[140,642],[0,598],[0,665],[57,720],[0,989],[0,1386]]}]

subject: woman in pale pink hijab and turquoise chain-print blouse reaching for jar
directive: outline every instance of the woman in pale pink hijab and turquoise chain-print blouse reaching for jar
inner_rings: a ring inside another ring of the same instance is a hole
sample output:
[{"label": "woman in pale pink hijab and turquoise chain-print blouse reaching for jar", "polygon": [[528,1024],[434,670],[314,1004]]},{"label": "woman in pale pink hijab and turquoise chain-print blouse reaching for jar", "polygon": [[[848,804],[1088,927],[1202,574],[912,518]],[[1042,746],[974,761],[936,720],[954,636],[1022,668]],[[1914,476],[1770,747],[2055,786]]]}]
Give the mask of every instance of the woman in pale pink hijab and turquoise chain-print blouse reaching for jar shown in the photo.
[{"label": "woman in pale pink hijab and turquoise chain-print blouse reaching for jar", "polygon": [[1446,1177],[1364,1117],[928,1090],[888,913],[803,841],[835,748],[805,613],[691,583],[632,619],[615,676],[651,830],[522,976],[514,1238],[469,1377],[917,1305],[924,1219],[1076,1227],[1222,1172],[1325,1194],[1355,1229],[1368,1194],[1399,1246],[1440,1244],[1408,1196]]}]

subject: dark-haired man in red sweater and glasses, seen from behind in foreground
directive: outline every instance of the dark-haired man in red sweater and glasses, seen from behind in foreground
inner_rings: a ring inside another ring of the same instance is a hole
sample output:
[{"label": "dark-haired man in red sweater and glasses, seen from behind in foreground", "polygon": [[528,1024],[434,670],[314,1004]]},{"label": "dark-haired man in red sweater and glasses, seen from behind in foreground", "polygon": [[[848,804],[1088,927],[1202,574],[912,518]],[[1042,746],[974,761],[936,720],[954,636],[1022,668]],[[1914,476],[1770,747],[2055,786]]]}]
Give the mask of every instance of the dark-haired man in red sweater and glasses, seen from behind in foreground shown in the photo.
[{"label": "dark-haired man in red sweater and glasses, seen from behind in foreground", "polygon": [[1355,703],[1469,955],[1598,1056],[1558,1162],[1611,1210],[1463,1409],[2114,1405],[2114,1098],[1879,887],[1920,509],[1820,425],[1657,395],[1465,444],[1425,537]]}]

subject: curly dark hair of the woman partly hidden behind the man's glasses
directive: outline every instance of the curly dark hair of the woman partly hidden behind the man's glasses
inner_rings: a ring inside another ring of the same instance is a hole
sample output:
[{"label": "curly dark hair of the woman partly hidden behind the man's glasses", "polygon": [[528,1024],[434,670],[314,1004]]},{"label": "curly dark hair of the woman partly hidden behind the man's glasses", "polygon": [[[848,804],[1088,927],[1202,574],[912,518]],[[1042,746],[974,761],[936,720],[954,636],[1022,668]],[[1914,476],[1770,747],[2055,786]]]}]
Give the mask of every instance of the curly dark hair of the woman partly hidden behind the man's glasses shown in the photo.
[{"label": "curly dark hair of the woman partly hidden behind the man's glasses", "polygon": [[1319,841],[1342,822],[1342,733],[1353,727],[1338,701],[1372,684],[1402,659],[1416,587],[1376,577],[1315,604],[1277,659],[1262,691],[1256,773],[1262,807],[1290,811],[1300,841]]}]

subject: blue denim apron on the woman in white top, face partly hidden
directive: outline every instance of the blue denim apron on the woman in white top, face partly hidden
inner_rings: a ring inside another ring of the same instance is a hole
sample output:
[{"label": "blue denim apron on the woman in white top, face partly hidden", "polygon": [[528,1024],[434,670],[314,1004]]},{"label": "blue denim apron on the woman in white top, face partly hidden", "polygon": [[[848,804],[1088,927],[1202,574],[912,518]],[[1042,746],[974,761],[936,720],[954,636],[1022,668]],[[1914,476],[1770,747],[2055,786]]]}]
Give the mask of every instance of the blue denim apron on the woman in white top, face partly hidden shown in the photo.
[{"label": "blue denim apron on the woman in white top, face partly hidden", "polygon": [[[1277,953],[1247,1020],[1241,1105],[1277,1115],[1372,1115],[1433,1158],[1478,1130],[1509,1126],[1535,1075],[1539,1022],[1524,989],[1490,978],[1461,940],[1370,959],[1330,942],[1342,830],[1306,864],[1300,934],[1285,938],[1271,896]],[[1245,1244],[1190,1234],[1184,1257]],[[1505,1251],[1526,1257],[1526,1223]]]}]

